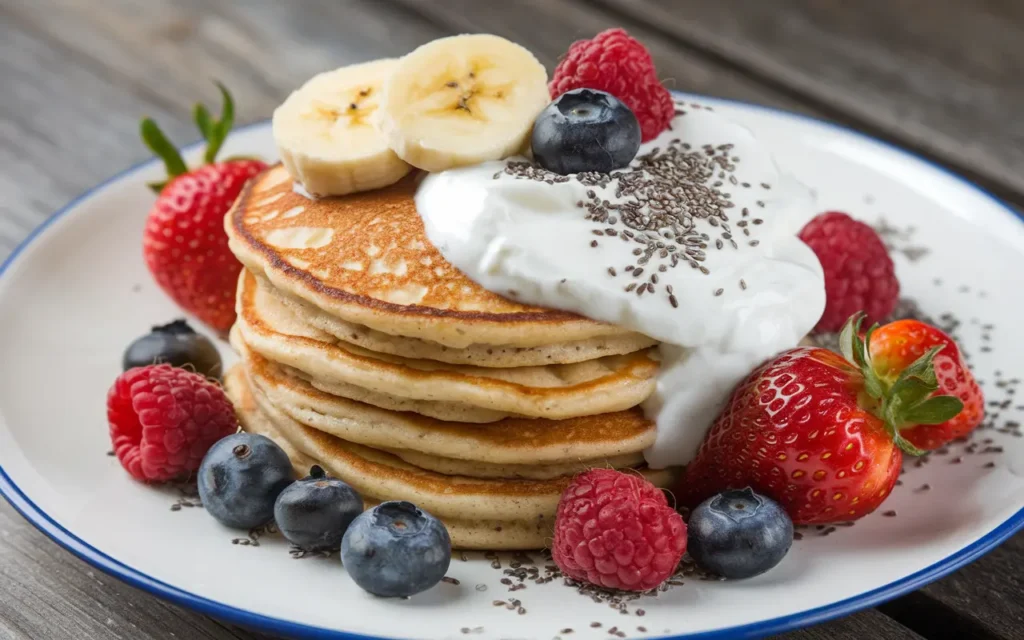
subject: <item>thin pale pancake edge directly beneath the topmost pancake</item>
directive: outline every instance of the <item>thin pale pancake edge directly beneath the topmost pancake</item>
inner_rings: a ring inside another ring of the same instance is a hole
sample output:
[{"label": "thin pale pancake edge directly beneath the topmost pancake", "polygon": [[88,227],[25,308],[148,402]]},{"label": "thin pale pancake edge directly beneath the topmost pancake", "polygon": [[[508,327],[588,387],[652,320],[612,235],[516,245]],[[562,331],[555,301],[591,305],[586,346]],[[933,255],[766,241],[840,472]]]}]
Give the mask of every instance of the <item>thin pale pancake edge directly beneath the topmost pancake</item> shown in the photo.
[{"label": "thin pale pancake edge directly beneath the topmost pancake", "polygon": [[[264,278],[257,280],[260,281],[260,287],[273,287]],[[569,365],[605,355],[633,353],[656,344],[655,340],[640,334],[625,334],[534,347],[478,344],[464,349],[455,349],[428,340],[391,336],[374,331],[369,327],[346,323],[300,298],[276,290],[274,290],[274,295],[278,295],[285,306],[311,327],[331,334],[339,340],[378,353],[437,360],[451,365],[495,368]]]}]

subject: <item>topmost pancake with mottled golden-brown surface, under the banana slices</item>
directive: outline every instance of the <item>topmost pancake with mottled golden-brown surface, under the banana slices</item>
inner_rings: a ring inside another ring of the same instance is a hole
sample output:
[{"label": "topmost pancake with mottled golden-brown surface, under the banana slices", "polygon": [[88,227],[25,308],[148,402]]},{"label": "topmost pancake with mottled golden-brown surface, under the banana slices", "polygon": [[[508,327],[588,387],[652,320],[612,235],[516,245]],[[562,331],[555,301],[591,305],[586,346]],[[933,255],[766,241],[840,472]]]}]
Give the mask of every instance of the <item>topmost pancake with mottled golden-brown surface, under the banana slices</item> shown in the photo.
[{"label": "topmost pancake with mottled golden-brown surface, under the banana slices", "polygon": [[469,280],[428,241],[413,199],[416,180],[310,200],[276,165],[250,181],[225,216],[231,250],[253,272],[330,315],[457,349],[630,333],[519,304]]}]

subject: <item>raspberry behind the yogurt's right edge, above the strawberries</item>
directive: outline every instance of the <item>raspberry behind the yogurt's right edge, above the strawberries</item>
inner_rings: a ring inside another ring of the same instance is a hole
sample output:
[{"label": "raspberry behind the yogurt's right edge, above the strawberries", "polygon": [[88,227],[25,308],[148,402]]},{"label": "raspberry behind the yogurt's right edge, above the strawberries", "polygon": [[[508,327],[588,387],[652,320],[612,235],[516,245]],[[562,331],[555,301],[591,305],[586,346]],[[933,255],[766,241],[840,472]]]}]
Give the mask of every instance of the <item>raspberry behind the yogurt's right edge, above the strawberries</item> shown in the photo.
[{"label": "raspberry behind the yogurt's right edge, above the strawberries", "polygon": [[896,308],[899,281],[889,250],[870,226],[829,211],[808,222],[800,240],[825,272],[825,312],[815,330],[839,331],[857,311],[882,322]]}]

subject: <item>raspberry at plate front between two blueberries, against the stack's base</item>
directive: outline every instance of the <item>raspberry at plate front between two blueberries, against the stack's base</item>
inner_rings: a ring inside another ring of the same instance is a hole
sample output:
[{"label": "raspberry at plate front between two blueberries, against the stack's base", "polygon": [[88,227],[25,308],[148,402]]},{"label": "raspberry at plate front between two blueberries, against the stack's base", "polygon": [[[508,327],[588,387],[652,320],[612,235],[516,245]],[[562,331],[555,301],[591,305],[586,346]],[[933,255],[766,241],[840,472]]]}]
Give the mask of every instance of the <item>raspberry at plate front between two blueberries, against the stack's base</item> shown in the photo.
[{"label": "raspberry at plate front between two blueberries, against the stack's base", "polygon": [[558,503],[551,554],[568,578],[648,591],[672,575],[685,551],[683,518],[638,475],[588,471]]}]

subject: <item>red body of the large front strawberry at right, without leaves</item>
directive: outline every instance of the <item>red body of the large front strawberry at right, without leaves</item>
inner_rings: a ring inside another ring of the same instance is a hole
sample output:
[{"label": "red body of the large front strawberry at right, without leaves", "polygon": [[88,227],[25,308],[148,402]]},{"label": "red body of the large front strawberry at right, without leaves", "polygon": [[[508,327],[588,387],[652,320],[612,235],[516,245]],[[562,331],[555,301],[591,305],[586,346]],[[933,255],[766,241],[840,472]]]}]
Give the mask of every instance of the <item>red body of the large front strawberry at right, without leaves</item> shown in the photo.
[{"label": "red body of the large front strawberry at right, without leaves", "polygon": [[855,520],[889,496],[903,461],[860,407],[863,377],[827,349],[786,351],[752,373],[712,425],[676,495],[695,507],[751,486],[795,524]]}]

